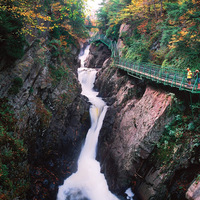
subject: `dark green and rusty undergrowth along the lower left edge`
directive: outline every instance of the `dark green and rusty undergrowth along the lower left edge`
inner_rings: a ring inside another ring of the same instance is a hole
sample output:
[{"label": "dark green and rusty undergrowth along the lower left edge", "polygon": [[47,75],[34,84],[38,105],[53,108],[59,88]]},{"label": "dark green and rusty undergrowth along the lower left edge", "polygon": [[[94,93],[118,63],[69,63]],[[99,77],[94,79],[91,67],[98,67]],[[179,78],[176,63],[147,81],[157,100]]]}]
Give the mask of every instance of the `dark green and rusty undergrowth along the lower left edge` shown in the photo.
[{"label": "dark green and rusty undergrowth along the lower left edge", "polygon": [[6,98],[0,99],[0,199],[26,199],[29,189],[27,149],[16,134],[16,119]]}]

